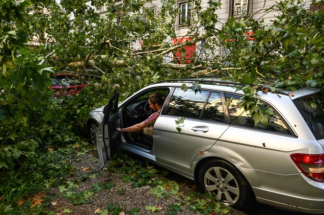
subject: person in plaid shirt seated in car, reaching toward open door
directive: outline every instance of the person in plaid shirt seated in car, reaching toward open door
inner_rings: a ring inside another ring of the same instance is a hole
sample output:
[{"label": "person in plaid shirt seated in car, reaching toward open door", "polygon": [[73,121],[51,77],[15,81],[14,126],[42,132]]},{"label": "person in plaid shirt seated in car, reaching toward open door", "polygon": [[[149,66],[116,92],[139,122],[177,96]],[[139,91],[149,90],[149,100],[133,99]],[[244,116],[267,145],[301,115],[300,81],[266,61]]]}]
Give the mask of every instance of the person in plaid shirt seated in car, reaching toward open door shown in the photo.
[{"label": "person in plaid shirt seated in car, reaching toward open door", "polygon": [[160,94],[154,93],[148,97],[148,101],[150,104],[150,108],[152,108],[155,112],[151,114],[147,119],[142,121],[141,123],[135,124],[128,128],[117,128],[117,131],[120,133],[123,132],[136,132],[143,130],[144,134],[153,137],[153,126],[155,121],[158,119],[161,113],[161,108],[164,103],[164,99]]}]

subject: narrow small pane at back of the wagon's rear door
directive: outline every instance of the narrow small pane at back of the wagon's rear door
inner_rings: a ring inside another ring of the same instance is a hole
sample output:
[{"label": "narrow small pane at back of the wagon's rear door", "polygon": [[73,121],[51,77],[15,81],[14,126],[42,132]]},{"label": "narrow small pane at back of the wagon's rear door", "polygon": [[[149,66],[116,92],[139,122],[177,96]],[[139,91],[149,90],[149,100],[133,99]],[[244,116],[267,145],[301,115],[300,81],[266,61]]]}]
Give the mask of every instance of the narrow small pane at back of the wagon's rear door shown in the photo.
[{"label": "narrow small pane at back of the wagon's rear door", "polygon": [[211,93],[206,103],[202,120],[224,122],[224,110],[220,93]]}]

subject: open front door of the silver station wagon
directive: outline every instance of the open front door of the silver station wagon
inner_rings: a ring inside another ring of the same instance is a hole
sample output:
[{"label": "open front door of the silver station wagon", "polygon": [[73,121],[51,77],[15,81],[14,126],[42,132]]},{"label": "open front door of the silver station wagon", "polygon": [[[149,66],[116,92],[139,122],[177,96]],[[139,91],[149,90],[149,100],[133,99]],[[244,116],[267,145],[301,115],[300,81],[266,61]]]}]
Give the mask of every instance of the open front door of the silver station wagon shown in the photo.
[{"label": "open front door of the silver station wagon", "polygon": [[100,160],[100,168],[103,169],[108,160],[117,152],[120,133],[116,128],[120,126],[120,113],[118,112],[119,92],[115,90],[104,108],[104,119],[99,124],[96,139]]}]

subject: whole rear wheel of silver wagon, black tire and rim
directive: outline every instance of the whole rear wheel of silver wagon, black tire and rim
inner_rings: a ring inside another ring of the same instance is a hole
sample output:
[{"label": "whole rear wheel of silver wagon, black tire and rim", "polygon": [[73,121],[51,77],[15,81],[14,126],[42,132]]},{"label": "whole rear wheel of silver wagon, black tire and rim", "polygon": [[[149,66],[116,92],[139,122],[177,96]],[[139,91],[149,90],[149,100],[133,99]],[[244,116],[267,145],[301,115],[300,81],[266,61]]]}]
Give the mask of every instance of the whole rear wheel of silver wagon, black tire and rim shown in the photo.
[{"label": "whole rear wheel of silver wagon, black tire and rim", "polygon": [[246,209],[254,200],[252,188],[244,175],[229,162],[209,160],[199,171],[199,187],[216,199],[238,210]]}]

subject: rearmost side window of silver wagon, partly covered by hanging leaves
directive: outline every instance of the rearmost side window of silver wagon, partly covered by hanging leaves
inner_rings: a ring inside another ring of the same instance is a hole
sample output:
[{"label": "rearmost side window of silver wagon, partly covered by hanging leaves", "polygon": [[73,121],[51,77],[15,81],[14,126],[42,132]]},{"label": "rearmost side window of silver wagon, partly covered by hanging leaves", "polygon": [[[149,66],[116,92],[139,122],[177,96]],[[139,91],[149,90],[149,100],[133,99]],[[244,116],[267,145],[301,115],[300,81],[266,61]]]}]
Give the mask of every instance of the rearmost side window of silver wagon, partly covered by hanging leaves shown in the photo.
[{"label": "rearmost side window of silver wagon, partly covered by hanging leaves", "polygon": [[[269,125],[259,122],[258,124],[254,125],[254,119],[250,115],[249,111],[245,111],[244,108],[239,108],[242,100],[240,100],[241,96],[226,94],[226,100],[229,98],[233,98],[230,106],[228,107],[228,112],[231,119],[231,124],[235,125],[242,125],[251,128],[257,128],[262,130],[268,130],[273,132],[279,132],[283,134],[290,134],[290,130],[287,128],[285,123],[279,116],[275,114],[275,112],[271,109],[270,110],[274,113],[273,115],[269,116]],[[262,105],[268,107],[267,104],[261,102]]]}]

